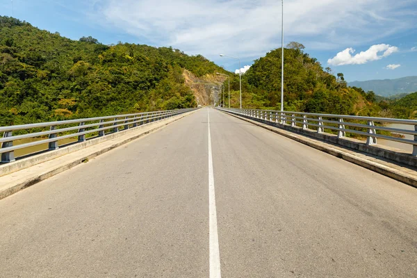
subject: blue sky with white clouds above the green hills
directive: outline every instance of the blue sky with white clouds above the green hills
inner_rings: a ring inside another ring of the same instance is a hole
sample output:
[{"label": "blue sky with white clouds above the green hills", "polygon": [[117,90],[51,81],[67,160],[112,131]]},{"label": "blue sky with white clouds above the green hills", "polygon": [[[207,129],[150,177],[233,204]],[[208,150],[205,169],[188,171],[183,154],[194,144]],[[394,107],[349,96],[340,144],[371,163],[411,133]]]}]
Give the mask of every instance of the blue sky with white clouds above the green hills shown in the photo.
[{"label": "blue sky with white clouds above the green hills", "polygon": [[[0,0],[0,15],[78,40],[202,54],[235,72],[281,47],[279,0]],[[416,0],[284,0],[284,45],[346,81],[417,76]]]}]

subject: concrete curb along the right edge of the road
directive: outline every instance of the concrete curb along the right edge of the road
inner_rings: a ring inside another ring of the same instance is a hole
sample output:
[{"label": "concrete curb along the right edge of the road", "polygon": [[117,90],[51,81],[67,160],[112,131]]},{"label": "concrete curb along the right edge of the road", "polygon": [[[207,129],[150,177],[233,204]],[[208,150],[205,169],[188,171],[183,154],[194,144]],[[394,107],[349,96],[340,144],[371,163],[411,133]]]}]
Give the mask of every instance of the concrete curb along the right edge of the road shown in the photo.
[{"label": "concrete curb along the right edge of the road", "polygon": [[[269,131],[272,131],[274,133],[277,133],[281,136],[285,136],[286,138],[290,138],[292,140],[295,140],[297,142],[300,142],[304,145],[307,145],[309,147],[313,147],[315,149],[318,149],[322,152],[325,152],[327,154],[332,154],[332,156],[336,156],[338,158],[342,158],[345,161],[349,161],[350,163],[354,163],[356,165],[359,165],[361,167],[365,167],[368,170],[372,170],[374,172],[377,172],[379,174],[383,174],[386,177],[390,177],[391,179],[395,179],[397,181],[401,181],[403,183],[407,183],[409,186],[413,186],[414,188],[417,188],[417,175],[411,174],[409,172],[406,172],[401,169],[396,169],[395,167],[390,167],[389,165],[384,165],[382,163],[378,163],[375,161],[370,161],[370,159],[362,158],[354,154],[354,151],[343,151],[341,149],[338,149],[336,147],[332,147],[327,142],[322,142],[318,139],[310,139],[306,138],[304,136],[297,135],[295,133],[291,133],[290,131],[284,131],[279,129],[275,126],[269,126],[268,124],[263,124],[256,122],[254,120],[249,120],[245,117],[240,117],[239,115],[236,115],[234,113],[229,113],[227,111],[222,111],[223,113],[226,113],[228,115],[231,115],[233,117],[236,117],[240,120],[243,120],[245,122],[250,122],[251,124],[254,124],[256,126],[260,126],[263,129],[268,129]],[[393,163],[390,163],[391,165],[395,165]]]}]

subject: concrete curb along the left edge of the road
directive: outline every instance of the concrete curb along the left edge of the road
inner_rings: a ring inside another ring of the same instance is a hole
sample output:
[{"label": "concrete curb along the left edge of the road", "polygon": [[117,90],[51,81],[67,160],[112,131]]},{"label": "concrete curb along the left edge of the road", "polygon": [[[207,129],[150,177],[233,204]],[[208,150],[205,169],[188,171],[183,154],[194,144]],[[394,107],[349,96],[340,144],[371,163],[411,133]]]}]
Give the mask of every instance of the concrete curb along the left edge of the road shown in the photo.
[{"label": "concrete curb along the left edge of the road", "polygon": [[[65,170],[69,170],[72,167],[79,165],[81,163],[84,163],[92,158],[95,158],[96,156],[99,156],[100,154],[104,154],[108,151],[111,151],[112,149],[115,149],[117,147],[120,147],[128,142],[131,142],[133,140],[136,140],[142,136],[145,136],[149,133],[152,133],[154,131],[157,131],[158,129],[163,129],[165,126],[167,126],[168,124],[172,124],[172,122],[177,122],[177,120],[182,119],[183,117],[186,117],[192,113],[195,113],[197,110],[195,111],[191,111],[188,113],[184,113],[184,114],[180,114],[174,117],[170,117],[167,118],[165,120],[161,120],[159,122],[154,122],[154,124],[159,124],[158,126],[152,127],[152,129],[145,129],[143,132],[140,132],[134,136],[131,136],[129,138],[125,138],[124,140],[121,140],[120,142],[115,142],[107,147],[104,148],[99,148],[97,150],[94,150],[88,154],[81,154],[77,156],[77,152],[71,152],[70,154],[67,154],[67,156],[76,156],[74,158],[70,158],[67,161],[65,161],[64,163],[60,163],[58,165],[53,165],[53,167],[49,167],[47,170],[43,170],[40,172],[37,172],[35,174],[26,174],[26,177],[21,177],[20,179],[17,178],[17,180],[15,179],[15,181],[13,181],[14,177],[12,176],[18,176],[19,175],[19,171],[17,172],[12,172],[10,174],[6,174],[3,177],[0,177],[0,199],[3,199],[5,197],[8,197],[10,195],[13,195],[14,193],[19,192],[20,190],[24,189],[24,188],[28,188],[29,186],[33,186],[35,183],[38,183],[40,181],[43,181],[45,179],[48,179],[49,177],[52,177],[56,174],[59,174],[60,172],[64,172]],[[143,127],[150,127],[150,126],[143,126]],[[128,130],[129,131],[129,130]],[[133,131],[132,129],[130,131]],[[136,131],[140,131],[140,129],[136,130]],[[126,134],[125,134],[126,135]],[[99,147],[99,144],[96,145],[92,145],[91,148],[97,148]],[[83,150],[88,150],[88,147],[83,149]],[[81,150],[80,150],[81,151]],[[58,159],[58,158],[62,158],[63,156],[58,156],[56,158],[53,158],[49,161],[45,161],[44,163],[38,163],[36,165],[33,165],[32,167],[39,167],[39,165],[42,164],[47,164],[47,163],[51,163]],[[27,167],[24,170],[28,170],[28,168],[31,167]],[[7,182],[6,179],[8,180],[12,180],[11,182]],[[1,181],[6,181],[6,182],[1,182]],[[3,183],[3,184],[2,184]]]}]

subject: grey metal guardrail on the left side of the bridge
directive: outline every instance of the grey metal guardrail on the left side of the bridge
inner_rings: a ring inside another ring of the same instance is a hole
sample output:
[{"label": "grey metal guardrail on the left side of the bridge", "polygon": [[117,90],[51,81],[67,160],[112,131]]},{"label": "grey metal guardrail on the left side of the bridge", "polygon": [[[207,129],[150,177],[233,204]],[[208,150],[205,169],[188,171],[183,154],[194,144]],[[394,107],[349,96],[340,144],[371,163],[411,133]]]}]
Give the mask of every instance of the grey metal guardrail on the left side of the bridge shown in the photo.
[{"label": "grey metal guardrail on the left side of the bridge", "polygon": [[[106,132],[111,130],[115,133],[125,129],[131,129],[136,126],[147,124],[149,122],[156,122],[167,117],[193,111],[197,108],[177,109],[170,111],[154,111],[145,113],[135,113],[126,115],[112,115],[106,117],[90,117],[77,120],[65,120],[58,122],[41,122],[37,124],[21,124],[15,126],[0,126],[0,132],[3,132],[3,138],[0,138],[1,148],[1,163],[9,163],[15,161],[15,150],[33,147],[35,145],[42,145],[48,143],[48,149],[58,149],[58,140],[68,138],[78,138],[78,142],[84,142],[85,136],[92,134],[95,136],[106,136]],[[22,135],[13,136],[13,131],[31,131],[33,129],[49,128],[47,131],[37,131],[33,133],[26,133]],[[76,131],[75,133],[70,133]],[[69,134],[67,134],[69,133]],[[27,138],[42,138],[35,142],[28,142],[20,145],[13,145],[13,141]]]}]

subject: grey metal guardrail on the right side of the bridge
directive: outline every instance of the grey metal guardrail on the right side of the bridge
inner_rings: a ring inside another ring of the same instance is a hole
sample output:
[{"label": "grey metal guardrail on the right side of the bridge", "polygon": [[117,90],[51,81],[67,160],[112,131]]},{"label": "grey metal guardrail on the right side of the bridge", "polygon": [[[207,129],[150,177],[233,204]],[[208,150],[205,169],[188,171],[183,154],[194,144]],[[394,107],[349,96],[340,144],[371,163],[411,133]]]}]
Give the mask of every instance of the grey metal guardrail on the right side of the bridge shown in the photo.
[{"label": "grey metal guardrail on the right side of the bridge", "polygon": [[[359,136],[366,137],[366,145],[377,144],[377,138],[391,140],[395,142],[402,142],[413,146],[413,156],[417,156],[417,120],[401,120],[391,119],[385,117],[362,117],[351,115],[333,115],[333,114],[319,114],[319,113],[302,113],[293,111],[274,111],[274,110],[259,110],[259,109],[238,109],[238,108],[218,108],[221,111],[228,111],[238,115],[245,115],[254,119],[267,120],[270,122],[286,124],[291,126],[300,125],[302,129],[309,129],[309,126],[314,126],[318,133],[322,133],[325,129],[337,131],[337,137],[343,138],[346,133],[354,133]],[[350,121],[350,122],[349,122]],[[377,125],[377,124],[380,125]],[[384,124],[408,124],[413,126],[412,129],[395,129],[384,126]],[[333,126],[332,126],[333,125]],[[353,126],[359,129],[366,129],[360,131],[355,129],[347,129],[345,126]],[[399,133],[400,135],[411,134],[414,140],[405,138],[398,138],[378,134],[377,131],[389,131],[391,133]]]}]

